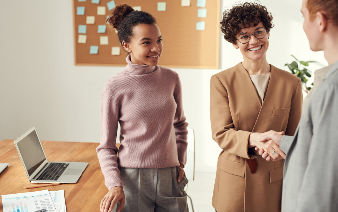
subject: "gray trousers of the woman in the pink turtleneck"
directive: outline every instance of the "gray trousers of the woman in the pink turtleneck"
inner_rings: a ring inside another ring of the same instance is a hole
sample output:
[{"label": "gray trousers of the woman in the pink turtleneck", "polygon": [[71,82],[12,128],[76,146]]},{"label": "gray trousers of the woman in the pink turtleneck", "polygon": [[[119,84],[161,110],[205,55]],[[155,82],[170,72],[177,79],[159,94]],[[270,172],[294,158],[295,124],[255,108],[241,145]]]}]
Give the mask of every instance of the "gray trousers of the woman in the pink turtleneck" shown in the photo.
[{"label": "gray trousers of the woman in the pink turtleneck", "polygon": [[122,212],[188,212],[188,179],[177,182],[178,168],[121,168],[126,202]]}]

